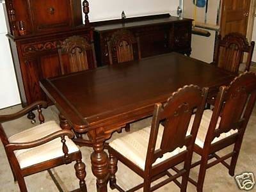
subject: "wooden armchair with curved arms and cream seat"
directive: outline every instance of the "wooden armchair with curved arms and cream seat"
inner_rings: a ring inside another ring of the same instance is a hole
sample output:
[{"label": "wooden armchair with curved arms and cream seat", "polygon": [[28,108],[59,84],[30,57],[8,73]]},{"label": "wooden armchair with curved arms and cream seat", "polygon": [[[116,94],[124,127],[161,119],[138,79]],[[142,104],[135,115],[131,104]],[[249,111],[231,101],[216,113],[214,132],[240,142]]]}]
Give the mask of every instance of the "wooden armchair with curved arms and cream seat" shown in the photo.
[{"label": "wooden armchair with curved arms and cream seat", "polygon": [[[85,164],[81,160],[81,151],[71,140],[74,134],[61,129],[54,121],[44,123],[42,108],[46,107],[46,102],[39,101],[12,115],[0,116],[0,137],[14,180],[18,182],[20,191],[27,191],[24,177],[76,161],[74,168],[80,189],[87,191],[84,181]],[[3,123],[20,118],[33,109],[38,110],[40,125],[10,137],[6,136]]]}]

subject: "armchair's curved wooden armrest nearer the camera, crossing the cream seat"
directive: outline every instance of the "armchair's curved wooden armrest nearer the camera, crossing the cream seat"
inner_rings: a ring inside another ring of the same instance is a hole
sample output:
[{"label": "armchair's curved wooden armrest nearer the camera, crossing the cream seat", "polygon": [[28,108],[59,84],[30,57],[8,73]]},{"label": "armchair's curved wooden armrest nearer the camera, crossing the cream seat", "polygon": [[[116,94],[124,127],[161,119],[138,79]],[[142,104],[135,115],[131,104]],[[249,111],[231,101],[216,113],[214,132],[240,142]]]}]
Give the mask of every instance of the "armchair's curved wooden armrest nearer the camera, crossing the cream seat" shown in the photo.
[{"label": "armchair's curved wooden armrest nearer the camera, crossing the cream seat", "polygon": [[45,143],[48,143],[49,141],[52,141],[59,137],[68,136],[68,138],[72,139],[74,138],[74,133],[70,130],[63,129],[60,131],[53,132],[52,134],[49,134],[48,136],[45,136],[44,138],[40,138],[39,140],[25,142],[25,143],[9,143],[6,145],[7,150],[20,150],[25,148],[33,148],[37,147],[39,145],[43,145]]}]

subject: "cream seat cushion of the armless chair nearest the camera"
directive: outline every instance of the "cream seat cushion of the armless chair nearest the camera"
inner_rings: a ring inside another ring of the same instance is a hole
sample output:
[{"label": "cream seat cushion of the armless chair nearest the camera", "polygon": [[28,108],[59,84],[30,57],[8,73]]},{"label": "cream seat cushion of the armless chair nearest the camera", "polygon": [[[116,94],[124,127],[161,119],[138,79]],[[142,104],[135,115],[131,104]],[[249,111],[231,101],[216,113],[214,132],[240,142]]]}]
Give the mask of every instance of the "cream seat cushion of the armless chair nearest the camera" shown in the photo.
[{"label": "cream seat cushion of the armless chair nearest the camera", "polygon": [[[111,143],[109,146],[115,149],[117,152],[122,154],[122,156],[126,157],[132,163],[136,164],[141,170],[145,169],[145,162],[147,156],[147,148],[148,148],[148,141],[150,136],[150,128],[145,127],[136,132],[132,132],[131,134],[127,134],[121,138],[118,138]],[[156,142],[156,150],[160,148],[161,140],[163,136],[163,125],[159,125],[159,132],[157,135],[157,142]],[[173,157],[180,152],[186,150],[186,147],[176,148],[172,152],[168,152],[164,154],[163,157],[158,158],[156,162],[153,164],[156,165],[158,163],[163,162],[164,160]]]}]

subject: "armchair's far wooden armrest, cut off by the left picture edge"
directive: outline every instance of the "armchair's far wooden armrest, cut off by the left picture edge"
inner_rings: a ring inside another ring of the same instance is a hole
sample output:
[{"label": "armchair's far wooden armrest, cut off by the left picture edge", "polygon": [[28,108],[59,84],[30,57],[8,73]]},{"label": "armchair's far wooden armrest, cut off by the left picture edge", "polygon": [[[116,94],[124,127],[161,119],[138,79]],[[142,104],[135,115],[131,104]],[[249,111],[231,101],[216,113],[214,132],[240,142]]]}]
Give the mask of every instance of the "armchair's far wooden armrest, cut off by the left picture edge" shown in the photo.
[{"label": "armchair's far wooden armrest, cut off by the left picture edge", "polygon": [[33,104],[30,104],[29,106],[27,106],[26,108],[22,109],[17,113],[13,113],[10,115],[0,115],[0,123],[8,122],[10,120],[15,120],[17,118],[20,118],[21,116],[26,115],[29,111],[32,111],[38,107],[47,108],[47,102],[40,100],[40,101],[34,102]]}]

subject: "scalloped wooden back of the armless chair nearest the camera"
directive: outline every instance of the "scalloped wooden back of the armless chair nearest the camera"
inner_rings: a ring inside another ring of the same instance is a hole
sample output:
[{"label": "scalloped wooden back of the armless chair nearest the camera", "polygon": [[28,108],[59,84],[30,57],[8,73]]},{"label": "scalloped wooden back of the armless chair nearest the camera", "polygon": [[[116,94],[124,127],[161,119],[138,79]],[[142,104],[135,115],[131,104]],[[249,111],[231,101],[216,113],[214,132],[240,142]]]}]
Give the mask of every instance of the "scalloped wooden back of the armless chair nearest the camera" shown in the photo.
[{"label": "scalloped wooden back of the armless chair nearest the camera", "polygon": [[[162,157],[166,152],[172,152],[177,147],[186,146],[192,154],[207,92],[208,88],[201,90],[194,85],[184,86],[173,93],[165,104],[155,105],[145,171],[151,167],[157,158]],[[187,135],[189,122],[195,110],[193,127],[190,134]],[[162,120],[164,120],[164,131],[161,147],[155,150],[159,123]]]}]

